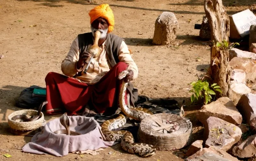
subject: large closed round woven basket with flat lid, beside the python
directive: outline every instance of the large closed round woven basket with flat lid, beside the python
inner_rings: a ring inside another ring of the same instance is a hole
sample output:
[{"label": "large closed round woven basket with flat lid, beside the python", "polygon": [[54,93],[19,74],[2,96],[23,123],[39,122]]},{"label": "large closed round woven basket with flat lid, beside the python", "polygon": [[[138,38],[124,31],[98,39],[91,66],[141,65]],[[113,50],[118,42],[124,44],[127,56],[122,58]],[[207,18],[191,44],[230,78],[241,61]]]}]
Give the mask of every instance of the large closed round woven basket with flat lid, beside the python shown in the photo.
[{"label": "large closed round woven basket with flat lid, beside the python", "polygon": [[159,113],[140,122],[138,141],[156,150],[177,150],[190,143],[192,123],[179,115]]}]

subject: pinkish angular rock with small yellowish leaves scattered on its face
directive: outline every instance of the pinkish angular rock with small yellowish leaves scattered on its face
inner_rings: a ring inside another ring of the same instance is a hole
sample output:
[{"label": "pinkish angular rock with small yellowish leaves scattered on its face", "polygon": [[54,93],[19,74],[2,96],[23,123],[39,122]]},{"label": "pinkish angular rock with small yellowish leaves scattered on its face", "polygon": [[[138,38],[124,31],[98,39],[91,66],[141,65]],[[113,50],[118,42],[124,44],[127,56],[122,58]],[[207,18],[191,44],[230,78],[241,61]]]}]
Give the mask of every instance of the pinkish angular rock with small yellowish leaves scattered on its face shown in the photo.
[{"label": "pinkish angular rock with small yellowish leaves scattered on its face", "polygon": [[230,150],[242,136],[242,131],[236,125],[217,117],[209,117],[204,124],[205,147],[213,146],[220,150]]}]

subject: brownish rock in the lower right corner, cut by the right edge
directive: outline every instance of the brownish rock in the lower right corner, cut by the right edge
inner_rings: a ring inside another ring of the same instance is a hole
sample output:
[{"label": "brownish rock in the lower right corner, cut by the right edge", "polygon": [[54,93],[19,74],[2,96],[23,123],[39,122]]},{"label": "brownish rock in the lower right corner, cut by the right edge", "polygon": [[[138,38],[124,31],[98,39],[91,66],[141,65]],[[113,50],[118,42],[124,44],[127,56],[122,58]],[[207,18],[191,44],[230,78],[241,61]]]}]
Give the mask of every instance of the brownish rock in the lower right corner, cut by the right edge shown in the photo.
[{"label": "brownish rock in the lower right corner, cut by the right edge", "polygon": [[253,157],[256,154],[256,135],[248,137],[232,149],[232,154],[240,157]]}]

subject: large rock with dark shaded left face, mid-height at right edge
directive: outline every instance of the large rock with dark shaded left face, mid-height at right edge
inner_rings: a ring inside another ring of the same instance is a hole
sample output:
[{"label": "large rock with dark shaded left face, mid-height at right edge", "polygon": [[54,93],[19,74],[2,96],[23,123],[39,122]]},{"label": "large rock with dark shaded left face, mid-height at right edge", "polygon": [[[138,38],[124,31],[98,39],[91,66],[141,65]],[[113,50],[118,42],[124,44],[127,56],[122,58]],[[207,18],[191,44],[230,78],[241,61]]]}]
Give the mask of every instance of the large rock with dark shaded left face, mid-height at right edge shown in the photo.
[{"label": "large rock with dark shaded left face, mid-height at right edge", "polygon": [[243,94],[238,101],[236,108],[243,116],[245,122],[252,126],[253,129],[256,129],[254,126],[254,118],[256,117],[256,94]]}]

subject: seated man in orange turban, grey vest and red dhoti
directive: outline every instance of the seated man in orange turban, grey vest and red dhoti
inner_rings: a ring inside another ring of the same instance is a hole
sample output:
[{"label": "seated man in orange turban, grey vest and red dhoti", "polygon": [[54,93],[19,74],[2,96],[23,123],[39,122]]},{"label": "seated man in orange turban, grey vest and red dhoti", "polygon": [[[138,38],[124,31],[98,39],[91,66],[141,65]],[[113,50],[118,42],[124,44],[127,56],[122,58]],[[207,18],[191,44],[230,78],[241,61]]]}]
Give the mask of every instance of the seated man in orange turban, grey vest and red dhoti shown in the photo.
[{"label": "seated man in orange turban, grey vest and red dhoti", "polygon": [[[91,105],[96,113],[104,113],[107,110],[115,113],[122,84],[122,80],[117,78],[118,74],[128,70],[129,73],[124,78],[126,82],[138,76],[138,67],[132,60],[124,40],[109,33],[114,29],[114,15],[109,5],[96,6],[89,12],[89,16],[92,32],[79,34],[73,41],[68,55],[61,64],[61,70],[65,75],[50,72],[45,78],[47,114],[58,114],[63,111],[68,115],[90,113],[88,105]],[[92,59],[87,73],[84,74],[91,57],[88,50],[93,44],[96,31],[101,33],[98,46],[102,51],[98,57]],[[134,89],[130,82],[126,97],[129,99],[126,99],[126,103],[132,105],[138,99],[137,89]]]}]

